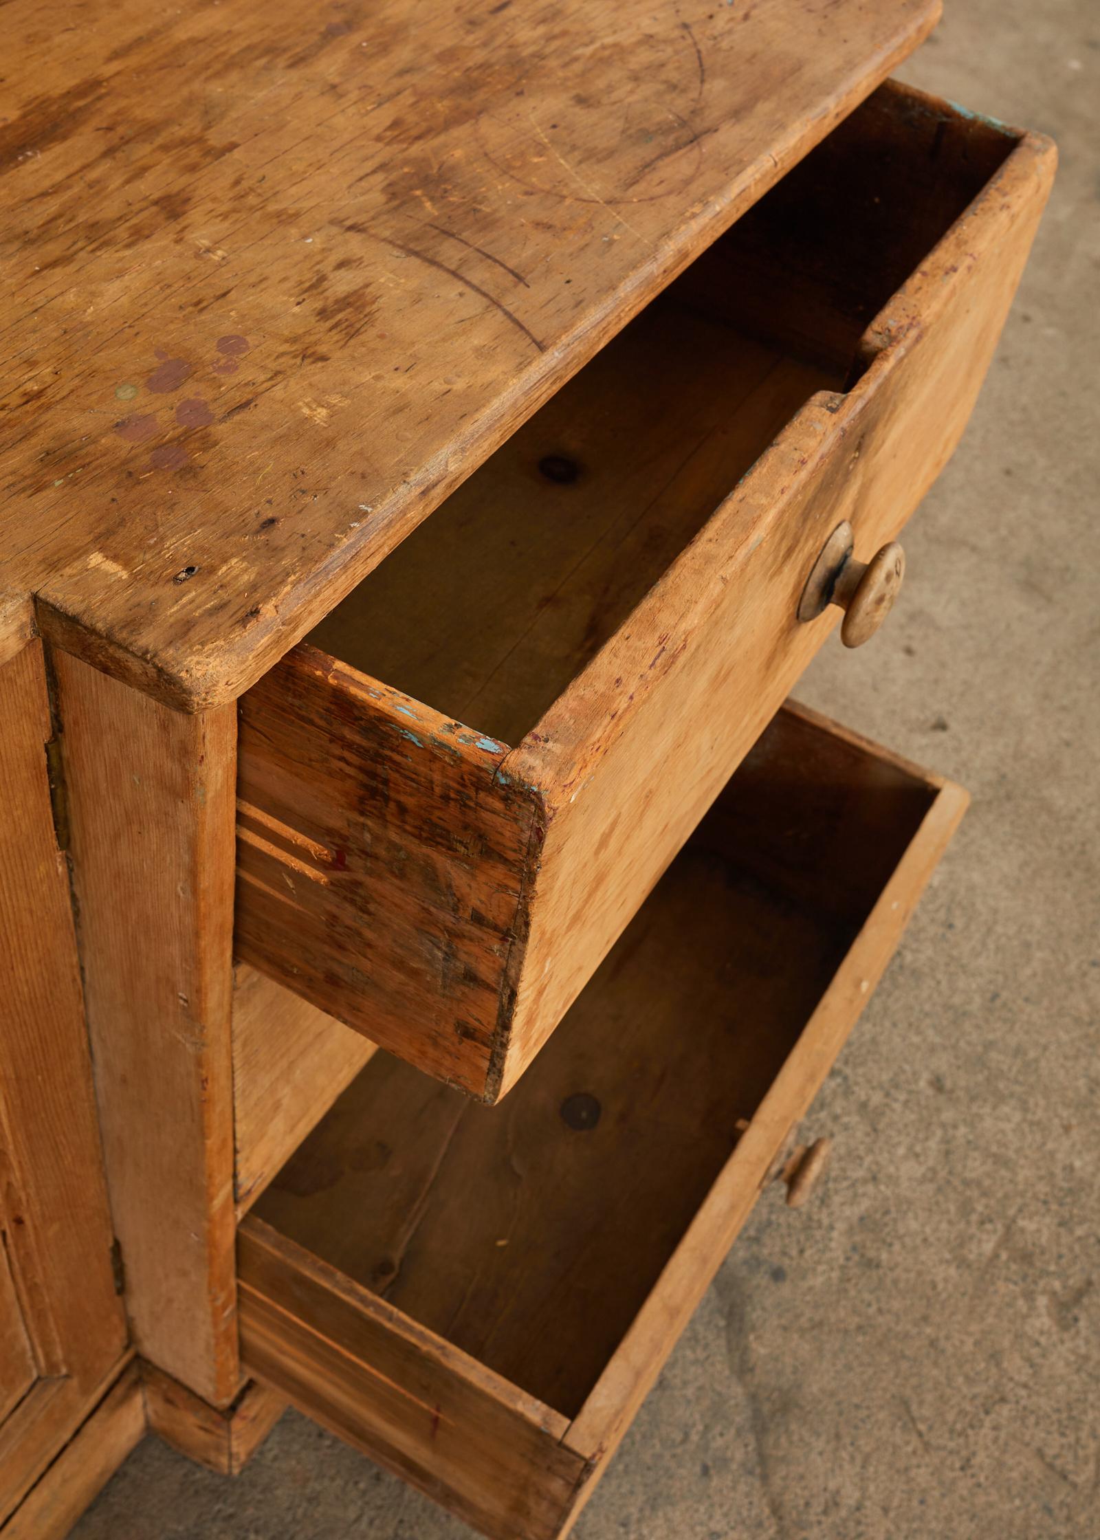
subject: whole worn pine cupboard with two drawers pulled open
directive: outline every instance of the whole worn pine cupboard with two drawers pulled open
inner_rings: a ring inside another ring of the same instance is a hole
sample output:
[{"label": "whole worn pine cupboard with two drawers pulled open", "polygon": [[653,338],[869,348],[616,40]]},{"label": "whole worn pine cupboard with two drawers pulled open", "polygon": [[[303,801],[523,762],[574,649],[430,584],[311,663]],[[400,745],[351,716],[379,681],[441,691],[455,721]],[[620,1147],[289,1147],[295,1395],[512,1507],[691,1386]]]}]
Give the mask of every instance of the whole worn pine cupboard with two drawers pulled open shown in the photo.
[{"label": "whole worn pine cupboard with two drawers pulled open", "polygon": [[963,816],[792,691],[906,602],[1054,148],[889,79],[934,0],[60,9],[0,112],[0,1537],[293,1403],[558,1540]]}]

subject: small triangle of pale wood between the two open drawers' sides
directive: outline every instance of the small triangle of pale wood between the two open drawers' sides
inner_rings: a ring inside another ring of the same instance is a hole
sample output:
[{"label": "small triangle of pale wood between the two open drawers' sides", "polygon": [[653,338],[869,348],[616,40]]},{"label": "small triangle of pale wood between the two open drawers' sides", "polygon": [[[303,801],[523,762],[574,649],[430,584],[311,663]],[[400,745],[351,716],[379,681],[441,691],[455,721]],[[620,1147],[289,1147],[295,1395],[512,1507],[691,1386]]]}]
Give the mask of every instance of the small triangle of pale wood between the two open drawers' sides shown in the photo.
[{"label": "small triangle of pale wood between the two open drawers' sides", "polygon": [[237,1217],[364,1067],[374,1044],[243,962],[233,981]]}]

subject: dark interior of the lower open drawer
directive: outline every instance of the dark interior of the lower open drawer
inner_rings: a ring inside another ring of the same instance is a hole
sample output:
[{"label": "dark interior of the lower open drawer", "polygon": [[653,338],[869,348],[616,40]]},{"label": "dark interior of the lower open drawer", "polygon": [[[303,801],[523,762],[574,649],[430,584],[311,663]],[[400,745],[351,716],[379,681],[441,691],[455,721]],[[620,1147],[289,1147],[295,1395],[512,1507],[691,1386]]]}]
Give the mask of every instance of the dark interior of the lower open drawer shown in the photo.
[{"label": "dark interior of the lower open drawer", "polygon": [[254,1214],[576,1415],[934,798],[781,711],[504,1103],[376,1053]]}]

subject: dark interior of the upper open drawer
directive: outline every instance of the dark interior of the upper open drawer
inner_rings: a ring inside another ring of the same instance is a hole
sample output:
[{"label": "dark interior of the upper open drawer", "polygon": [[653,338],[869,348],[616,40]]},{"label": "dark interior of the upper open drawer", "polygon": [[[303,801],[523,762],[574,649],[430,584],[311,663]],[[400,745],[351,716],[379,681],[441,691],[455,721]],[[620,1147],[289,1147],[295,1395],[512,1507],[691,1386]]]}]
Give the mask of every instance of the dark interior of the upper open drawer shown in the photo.
[{"label": "dark interior of the upper open drawer", "polygon": [[310,641],[518,744],[806,399],[858,374],[867,323],[1014,143],[880,89]]}]

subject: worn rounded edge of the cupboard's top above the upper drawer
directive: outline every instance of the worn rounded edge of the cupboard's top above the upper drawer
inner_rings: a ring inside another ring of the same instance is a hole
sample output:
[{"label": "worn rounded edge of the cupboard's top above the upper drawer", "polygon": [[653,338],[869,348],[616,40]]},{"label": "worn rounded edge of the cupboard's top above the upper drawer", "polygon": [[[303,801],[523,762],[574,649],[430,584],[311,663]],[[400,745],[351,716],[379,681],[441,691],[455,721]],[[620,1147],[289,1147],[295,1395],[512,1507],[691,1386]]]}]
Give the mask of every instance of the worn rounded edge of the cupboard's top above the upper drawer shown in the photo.
[{"label": "worn rounded edge of the cupboard's top above the upper drawer", "polygon": [[[559,343],[539,354],[516,390],[471,417],[459,442],[425,460],[379,510],[371,530],[333,550],[327,561],[265,596],[262,613],[240,636],[206,642],[200,653],[183,644],[154,650],[112,630],[80,594],[77,562],[35,594],[39,625],[54,645],[180,711],[203,711],[236,701],[333,610],[370,571],[428,517],[499,445],[561,390],[661,290],[730,228],[793,165],[869,97],[932,32],[941,0],[901,25],[895,38],[840,82],[827,108],[792,120],[756,160],[743,166],[723,200],[689,208],[646,266],[582,316]],[[288,621],[287,616],[294,619]]]}]

